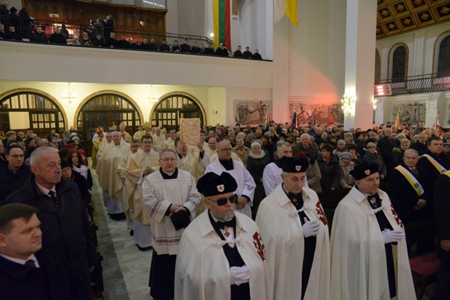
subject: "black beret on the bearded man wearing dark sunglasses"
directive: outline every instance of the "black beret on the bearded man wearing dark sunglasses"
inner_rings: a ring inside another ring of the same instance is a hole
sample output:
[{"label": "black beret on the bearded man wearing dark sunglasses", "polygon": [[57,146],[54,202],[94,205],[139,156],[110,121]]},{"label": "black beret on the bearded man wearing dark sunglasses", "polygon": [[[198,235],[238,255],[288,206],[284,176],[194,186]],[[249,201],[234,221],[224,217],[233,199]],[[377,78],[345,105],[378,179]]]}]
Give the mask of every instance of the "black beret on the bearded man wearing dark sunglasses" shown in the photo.
[{"label": "black beret on the bearded man wearing dark sunglasses", "polygon": [[233,193],[237,189],[237,182],[226,172],[220,175],[210,172],[199,179],[197,189],[205,197]]}]

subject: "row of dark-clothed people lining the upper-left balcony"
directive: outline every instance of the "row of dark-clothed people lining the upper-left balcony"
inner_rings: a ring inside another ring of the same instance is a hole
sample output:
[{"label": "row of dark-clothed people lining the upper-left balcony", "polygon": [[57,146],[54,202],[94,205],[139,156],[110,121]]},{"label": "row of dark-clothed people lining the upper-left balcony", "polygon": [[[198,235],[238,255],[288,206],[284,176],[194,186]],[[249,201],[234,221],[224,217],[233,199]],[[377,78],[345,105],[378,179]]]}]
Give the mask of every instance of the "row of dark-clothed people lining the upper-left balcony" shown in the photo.
[{"label": "row of dark-clothed people lining the upper-left balcony", "polygon": [[114,20],[111,15],[106,19],[98,17],[96,21],[91,20],[89,28],[82,30],[81,37],[77,35],[70,35],[66,29],[66,21],[63,21],[62,27],[46,26],[46,28],[53,28],[43,30],[42,25],[34,24],[33,19],[30,18],[25,8],[22,8],[17,15],[15,8],[8,10],[8,3],[0,4],[0,24],[3,30],[0,30],[0,39],[8,39],[15,41],[23,41],[24,39],[42,44],[70,44],[78,46],[92,46],[103,48],[120,48],[120,49],[134,49],[146,51],[159,52],[173,52],[173,53],[190,53],[198,55],[218,55],[218,56],[232,56],[243,59],[262,59],[258,49],[255,53],[251,53],[250,47],[242,52],[241,46],[237,46],[235,52],[228,50],[224,43],[219,44],[214,48],[213,43],[202,44],[197,41],[189,41],[184,39],[183,44],[179,43],[177,39],[173,44],[168,44],[167,39],[162,39],[161,44],[155,44],[155,39],[147,39],[143,37],[142,41],[137,41],[134,37],[128,37],[121,34],[116,37],[114,32]]}]

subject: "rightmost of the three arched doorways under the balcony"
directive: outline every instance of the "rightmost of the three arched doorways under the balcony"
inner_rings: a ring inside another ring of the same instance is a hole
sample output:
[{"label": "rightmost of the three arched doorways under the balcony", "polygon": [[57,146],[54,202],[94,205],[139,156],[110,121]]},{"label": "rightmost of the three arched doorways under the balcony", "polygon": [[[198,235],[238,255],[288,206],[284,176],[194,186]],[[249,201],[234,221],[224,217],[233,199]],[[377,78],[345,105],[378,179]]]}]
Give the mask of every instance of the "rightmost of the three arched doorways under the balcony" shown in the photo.
[{"label": "rightmost of the three arched doorways under the balcony", "polygon": [[193,96],[183,93],[170,93],[156,104],[152,113],[152,127],[162,124],[165,129],[179,130],[179,118],[199,118],[203,127],[203,109]]}]

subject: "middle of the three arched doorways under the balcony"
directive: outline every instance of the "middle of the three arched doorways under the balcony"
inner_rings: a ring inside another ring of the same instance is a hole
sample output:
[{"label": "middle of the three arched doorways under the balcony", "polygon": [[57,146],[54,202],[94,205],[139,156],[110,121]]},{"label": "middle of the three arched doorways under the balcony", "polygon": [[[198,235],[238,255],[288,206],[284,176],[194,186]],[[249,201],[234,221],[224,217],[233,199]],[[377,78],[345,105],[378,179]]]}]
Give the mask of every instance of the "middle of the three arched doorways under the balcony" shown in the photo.
[{"label": "middle of the three arched doorways under the balcony", "polygon": [[92,151],[92,137],[96,133],[96,126],[102,126],[107,131],[115,125],[118,130],[121,122],[127,124],[125,130],[130,135],[138,131],[141,115],[132,100],[125,95],[110,92],[87,97],[78,112],[76,124],[88,155]]}]

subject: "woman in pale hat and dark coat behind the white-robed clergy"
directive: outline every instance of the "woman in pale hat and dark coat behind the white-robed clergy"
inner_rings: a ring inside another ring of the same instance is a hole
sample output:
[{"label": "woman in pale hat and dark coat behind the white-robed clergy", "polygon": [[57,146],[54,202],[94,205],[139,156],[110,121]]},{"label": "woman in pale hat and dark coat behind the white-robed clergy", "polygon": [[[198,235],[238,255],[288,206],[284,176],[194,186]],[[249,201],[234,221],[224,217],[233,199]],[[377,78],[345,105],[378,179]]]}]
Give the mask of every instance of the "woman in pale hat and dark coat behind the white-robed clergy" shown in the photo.
[{"label": "woman in pale hat and dark coat behind the white-robed clergy", "polygon": [[251,151],[247,157],[246,168],[249,170],[251,177],[253,177],[253,180],[255,180],[256,183],[255,196],[253,197],[253,209],[255,212],[258,211],[258,205],[266,196],[266,194],[264,194],[264,186],[262,185],[262,173],[269,163],[269,153],[261,148],[259,142],[252,142]]}]

